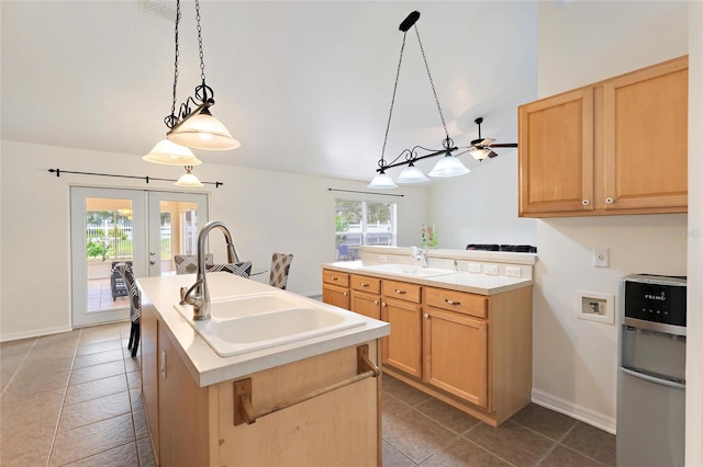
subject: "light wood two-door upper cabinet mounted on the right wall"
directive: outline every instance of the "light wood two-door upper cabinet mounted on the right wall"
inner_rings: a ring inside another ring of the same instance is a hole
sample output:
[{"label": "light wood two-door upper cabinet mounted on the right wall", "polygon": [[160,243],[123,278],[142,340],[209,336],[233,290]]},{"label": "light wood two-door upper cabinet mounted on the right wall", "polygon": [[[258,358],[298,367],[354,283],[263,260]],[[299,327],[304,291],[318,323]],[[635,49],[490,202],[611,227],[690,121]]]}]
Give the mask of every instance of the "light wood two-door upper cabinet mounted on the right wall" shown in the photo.
[{"label": "light wood two-door upper cabinet mounted on the right wall", "polygon": [[688,57],[518,107],[520,215],[684,213]]}]

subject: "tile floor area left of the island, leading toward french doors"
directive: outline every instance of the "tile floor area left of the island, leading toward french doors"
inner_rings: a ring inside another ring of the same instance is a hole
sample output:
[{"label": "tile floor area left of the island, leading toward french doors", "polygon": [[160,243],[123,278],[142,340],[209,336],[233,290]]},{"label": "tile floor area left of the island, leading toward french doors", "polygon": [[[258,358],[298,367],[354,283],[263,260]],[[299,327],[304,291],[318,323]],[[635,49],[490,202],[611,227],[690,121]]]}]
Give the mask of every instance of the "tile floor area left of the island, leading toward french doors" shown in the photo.
[{"label": "tile floor area left of the island, leading toward french doors", "polygon": [[155,466],[130,323],[0,344],[1,466]]}]

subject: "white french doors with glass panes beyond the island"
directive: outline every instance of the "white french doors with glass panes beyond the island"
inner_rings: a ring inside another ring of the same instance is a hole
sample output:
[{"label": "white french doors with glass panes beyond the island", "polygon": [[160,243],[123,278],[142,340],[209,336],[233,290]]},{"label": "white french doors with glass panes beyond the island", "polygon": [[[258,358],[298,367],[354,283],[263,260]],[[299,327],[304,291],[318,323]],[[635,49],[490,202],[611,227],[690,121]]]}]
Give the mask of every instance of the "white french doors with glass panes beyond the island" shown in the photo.
[{"label": "white french doors with glass panes beyond the island", "polygon": [[175,254],[196,254],[208,221],[208,195],[74,186],[71,318],[74,327],[127,319],[126,288],[114,264],[136,277],[175,274]]}]

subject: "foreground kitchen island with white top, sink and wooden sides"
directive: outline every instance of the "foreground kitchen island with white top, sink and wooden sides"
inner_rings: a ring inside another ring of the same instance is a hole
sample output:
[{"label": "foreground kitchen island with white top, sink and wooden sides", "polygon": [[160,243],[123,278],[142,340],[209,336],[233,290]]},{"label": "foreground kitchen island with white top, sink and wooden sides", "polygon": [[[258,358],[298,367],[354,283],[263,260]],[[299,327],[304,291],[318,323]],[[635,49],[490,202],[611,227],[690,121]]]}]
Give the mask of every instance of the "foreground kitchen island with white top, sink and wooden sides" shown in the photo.
[{"label": "foreground kitchen island with white top, sink and wooden sides", "polygon": [[[389,324],[224,272],[208,274],[212,320],[193,323],[178,303],[194,275],[137,282],[142,392],[159,465],[380,465],[378,340]],[[276,339],[257,328],[274,311],[301,310],[335,324]],[[238,346],[221,345],[245,324]]]}]

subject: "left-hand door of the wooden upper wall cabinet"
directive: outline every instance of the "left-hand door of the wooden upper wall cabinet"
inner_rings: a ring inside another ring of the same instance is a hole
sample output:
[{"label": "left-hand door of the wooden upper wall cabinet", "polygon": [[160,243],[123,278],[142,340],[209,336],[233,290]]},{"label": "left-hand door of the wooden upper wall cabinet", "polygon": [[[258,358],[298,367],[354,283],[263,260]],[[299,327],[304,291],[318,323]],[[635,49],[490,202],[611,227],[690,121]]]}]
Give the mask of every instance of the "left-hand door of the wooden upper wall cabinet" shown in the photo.
[{"label": "left-hand door of the wooden upper wall cabinet", "polygon": [[593,209],[593,90],[518,107],[520,215]]}]

